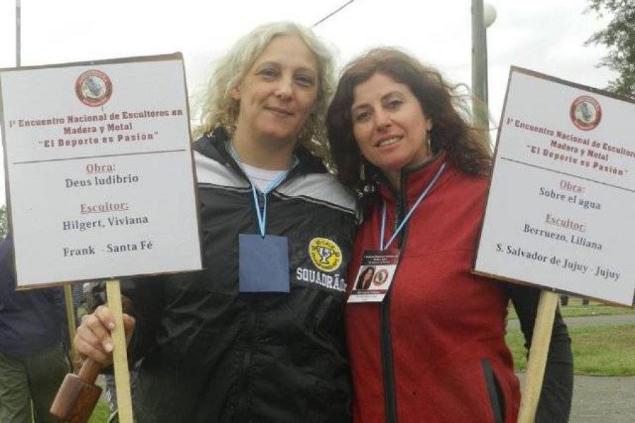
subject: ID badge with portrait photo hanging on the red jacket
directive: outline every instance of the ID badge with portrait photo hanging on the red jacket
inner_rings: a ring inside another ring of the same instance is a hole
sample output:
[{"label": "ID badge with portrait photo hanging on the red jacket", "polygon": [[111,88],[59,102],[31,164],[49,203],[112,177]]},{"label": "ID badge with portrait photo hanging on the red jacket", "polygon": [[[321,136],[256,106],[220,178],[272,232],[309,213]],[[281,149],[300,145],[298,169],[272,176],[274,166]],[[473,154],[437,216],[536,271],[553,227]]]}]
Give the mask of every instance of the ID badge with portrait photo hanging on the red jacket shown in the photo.
[{"label": "ID badge with portrait photo hanging on the red jacket", "polygon": [[399,250],[366,250],[348,302],[382,302],[399,263]]}]

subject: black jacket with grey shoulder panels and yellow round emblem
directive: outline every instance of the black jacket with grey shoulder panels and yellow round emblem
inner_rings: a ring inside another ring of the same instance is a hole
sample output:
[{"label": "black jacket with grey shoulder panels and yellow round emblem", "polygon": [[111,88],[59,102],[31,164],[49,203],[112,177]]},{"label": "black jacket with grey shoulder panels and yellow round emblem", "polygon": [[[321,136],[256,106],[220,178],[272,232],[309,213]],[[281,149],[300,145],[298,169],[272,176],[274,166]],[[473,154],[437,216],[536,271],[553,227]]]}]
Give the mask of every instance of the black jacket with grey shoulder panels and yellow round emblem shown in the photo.
[{"label": "black jacket with grey shoulder panels and yellow round emblem", "polygon": [[205,270],[124,286],[137,319],[131,353],[143,357],[135,417],[349,422],[343,312],[353,198],[320,161],[296,152],[299,163],[267,197],[267,234],[289,239],[291,293],[241,294],[238,235],[258,233],[250,185],[223,133],[195,151]]}]

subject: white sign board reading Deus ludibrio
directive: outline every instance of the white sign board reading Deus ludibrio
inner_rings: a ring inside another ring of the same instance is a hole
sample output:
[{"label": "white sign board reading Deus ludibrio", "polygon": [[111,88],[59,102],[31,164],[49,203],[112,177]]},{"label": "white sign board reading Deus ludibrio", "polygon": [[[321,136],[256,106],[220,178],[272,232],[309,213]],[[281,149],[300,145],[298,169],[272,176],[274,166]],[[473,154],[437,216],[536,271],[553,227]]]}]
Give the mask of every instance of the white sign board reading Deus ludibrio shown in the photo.
[{"label": "white sign board reading Deus ludibrio", "polygon": [[201,268],[181,54],[0,71],[18,287]]}]

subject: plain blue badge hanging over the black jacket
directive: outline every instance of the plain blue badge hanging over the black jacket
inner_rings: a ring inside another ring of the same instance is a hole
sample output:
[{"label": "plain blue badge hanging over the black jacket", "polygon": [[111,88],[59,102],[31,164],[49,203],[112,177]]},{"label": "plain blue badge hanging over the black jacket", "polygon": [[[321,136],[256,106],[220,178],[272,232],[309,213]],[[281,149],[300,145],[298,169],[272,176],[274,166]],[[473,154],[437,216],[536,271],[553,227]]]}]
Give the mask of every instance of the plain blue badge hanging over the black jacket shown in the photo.
[{"label": "plain blue badge hanging over the black jacket", "polygon": [[241,233],[239,280],[241,293],[289,292],[289,241],[284,236]]}]

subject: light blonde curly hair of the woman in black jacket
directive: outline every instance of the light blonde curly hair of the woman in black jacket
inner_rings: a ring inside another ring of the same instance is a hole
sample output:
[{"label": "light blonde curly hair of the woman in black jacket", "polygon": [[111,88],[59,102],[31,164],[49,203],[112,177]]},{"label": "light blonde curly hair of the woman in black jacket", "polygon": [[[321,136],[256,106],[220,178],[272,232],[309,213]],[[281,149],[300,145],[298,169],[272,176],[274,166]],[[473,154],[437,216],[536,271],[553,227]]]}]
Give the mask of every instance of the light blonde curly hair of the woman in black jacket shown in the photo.
[{"label": "light blonde curly hair of the woman in black jacket", "polygon": [[274,37],[297,35],[315,55],[317,63],[317,99],[310,116],[298,135],[298,144],[318,156],[328,151],[325,115],[334,91],[334,60],[329,49],[310,29],[292,22],[260,25],[245,35],[214,64],[207,86],[193,96],[194,116],[198,125],[193,128],[194,139],[214,128],[234,132],[240,104],[231,97],[231,90],[245,77],[258,56]]}]

